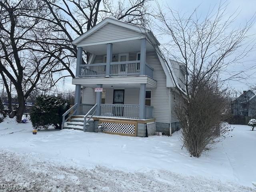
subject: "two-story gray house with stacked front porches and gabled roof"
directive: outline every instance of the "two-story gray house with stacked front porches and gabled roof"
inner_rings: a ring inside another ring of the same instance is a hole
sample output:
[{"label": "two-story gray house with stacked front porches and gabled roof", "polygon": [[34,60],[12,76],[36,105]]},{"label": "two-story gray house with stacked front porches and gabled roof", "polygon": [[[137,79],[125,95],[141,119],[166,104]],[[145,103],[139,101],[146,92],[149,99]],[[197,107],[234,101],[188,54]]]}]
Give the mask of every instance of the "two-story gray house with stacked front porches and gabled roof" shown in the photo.
[{"label": "two-story gray house with stacked front porches and gabled roof", "polygon": [[[146,136],[150,122],[165,134],[180,129],[175,106],[179,88],[184,92],[184,64],[166,64],[150,30],[106,18],[72,43],[78,49],[74,110],[76,117],[92,114],[94,124],[87,118],[87,131],[96,130],[98,123],[107,127],[105,132],[133,136]],[[91,53],[88,64],[82,63],[83,50]],[[64,128],[85,126],[78,118]]]}]

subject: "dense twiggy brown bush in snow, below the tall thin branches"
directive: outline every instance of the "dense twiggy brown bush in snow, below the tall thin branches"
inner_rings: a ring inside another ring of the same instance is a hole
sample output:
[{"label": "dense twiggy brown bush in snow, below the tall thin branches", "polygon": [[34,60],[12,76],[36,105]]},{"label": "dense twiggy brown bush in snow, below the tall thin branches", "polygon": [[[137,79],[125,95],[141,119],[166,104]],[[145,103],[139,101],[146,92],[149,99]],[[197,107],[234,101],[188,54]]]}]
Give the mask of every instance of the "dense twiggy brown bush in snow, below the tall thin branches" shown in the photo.
[{"label": "dense twiggy brown bush in snow, below the tall thin branches", "polygon": [[197,82],[192,78],[189,102],[176,107],[182,126],[182,141],[190,154],[199,157],[210,149],[220,134],[220,120],[225,112],[226,90],[220,91],[213,81]]}]

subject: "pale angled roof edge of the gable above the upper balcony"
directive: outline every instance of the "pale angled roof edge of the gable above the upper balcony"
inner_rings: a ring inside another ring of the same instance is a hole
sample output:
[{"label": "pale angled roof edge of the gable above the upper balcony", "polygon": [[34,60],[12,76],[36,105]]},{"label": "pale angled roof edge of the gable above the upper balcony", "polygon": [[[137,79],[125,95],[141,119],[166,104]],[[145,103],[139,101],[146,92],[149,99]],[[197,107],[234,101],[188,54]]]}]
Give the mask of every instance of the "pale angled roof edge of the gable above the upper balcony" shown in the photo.
[{"label": "pale angled roof edge of the gable above the upper balcony", "polygon": [[155,38],[155,36],[153,35],[153,33],[150,30],[143,28],[143,27],[136,26],[134,24],[122,22],[113,17],[105,18],[104,20],[102,20],[101,22],[96,24],[96,26],[94,26],[93,28],[91,28],[90,30],[88,30],[87,32],[85,32],[84,34],[79,36],[78,38],[76,38],[74,41],[72,41],[72,44],[77,46],[79,42],[81,42],[82,40],[84,40],[88,36],[92,35],[94,32],[96,32],[97,30],[99,30],[100,28],[102,28],[103,26],[105,26],[106,24],[109,24],[109,23],[127,28],[129,30],[138,32],[140,34],[144,34],[146,36],[146,38],[149,38],[152,43],[154,42],[155,44],[160,45],[160,43],[158,42],[158,40]]}]

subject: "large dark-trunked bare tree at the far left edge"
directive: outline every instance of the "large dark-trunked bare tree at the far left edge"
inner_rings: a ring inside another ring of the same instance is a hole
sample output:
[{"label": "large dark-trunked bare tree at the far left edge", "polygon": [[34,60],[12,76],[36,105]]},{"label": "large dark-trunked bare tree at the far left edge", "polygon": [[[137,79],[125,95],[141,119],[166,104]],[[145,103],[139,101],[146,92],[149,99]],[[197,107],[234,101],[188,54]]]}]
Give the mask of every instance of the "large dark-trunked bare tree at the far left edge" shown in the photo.
[{"label": "large dark-trunked bare tree at the far left edge", "polygon": [[[44,26],[39,19],[45,14],[43,4],[32,0],[0,1],[0,70],[12,82],[18,95],[18,108],[10,117],[20,122],[25,110],[25,100],[36,86],[46,87],[49,73],[58,60],[47,52],[35,52]],[[27,16],[24,16],[26,12]],[[30,16],[37,16],[38,19]],[[52,53],[59,48],[51,46]],[[6,86],[6,90],[8,86]]]}]

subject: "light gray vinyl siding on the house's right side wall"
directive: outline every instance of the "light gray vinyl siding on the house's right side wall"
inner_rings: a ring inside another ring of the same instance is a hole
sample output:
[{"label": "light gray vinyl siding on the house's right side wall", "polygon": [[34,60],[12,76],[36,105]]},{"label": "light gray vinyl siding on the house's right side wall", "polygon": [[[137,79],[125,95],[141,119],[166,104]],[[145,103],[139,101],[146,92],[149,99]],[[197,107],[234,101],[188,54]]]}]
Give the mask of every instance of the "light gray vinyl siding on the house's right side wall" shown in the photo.
[{"label": "light gray vinyl siding on the house's right side wall", "polygon": [[151,92],[154,118],[156,118],[156,122],[169,123],[169,89],[166,87],[166,75],[156,51],[146,52],[146,62],[154,68],[153,78],[157,81],[157,87]]}]

